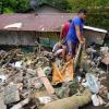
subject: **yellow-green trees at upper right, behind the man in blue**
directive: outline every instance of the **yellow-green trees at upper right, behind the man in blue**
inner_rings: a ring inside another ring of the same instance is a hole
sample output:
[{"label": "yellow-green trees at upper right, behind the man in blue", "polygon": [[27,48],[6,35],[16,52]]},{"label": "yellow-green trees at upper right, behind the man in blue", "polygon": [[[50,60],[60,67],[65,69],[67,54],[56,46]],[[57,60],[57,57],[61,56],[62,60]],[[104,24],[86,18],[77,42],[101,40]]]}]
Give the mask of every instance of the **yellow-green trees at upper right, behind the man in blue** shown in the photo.
[{"label": "yellow-green trees at upper right, behind the man in blue", "polygon": [[70,12],[87,9],[86,25],[109,28],[109,0],[68,0],[71,5]]}]

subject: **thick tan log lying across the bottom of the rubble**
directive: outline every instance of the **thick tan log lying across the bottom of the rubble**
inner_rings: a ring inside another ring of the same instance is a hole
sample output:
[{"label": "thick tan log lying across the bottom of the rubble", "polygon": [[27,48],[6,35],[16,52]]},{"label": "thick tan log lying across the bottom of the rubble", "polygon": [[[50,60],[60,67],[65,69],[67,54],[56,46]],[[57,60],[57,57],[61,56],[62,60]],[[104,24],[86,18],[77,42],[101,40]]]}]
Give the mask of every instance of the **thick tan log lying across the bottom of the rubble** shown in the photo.
[{"label": "thick tan log lying across the bottom of the rubble", "polygon": [[78,109],[90,101],[90,90],[85,89],[82,95],[59,99],[47,104],[43,109]]}]

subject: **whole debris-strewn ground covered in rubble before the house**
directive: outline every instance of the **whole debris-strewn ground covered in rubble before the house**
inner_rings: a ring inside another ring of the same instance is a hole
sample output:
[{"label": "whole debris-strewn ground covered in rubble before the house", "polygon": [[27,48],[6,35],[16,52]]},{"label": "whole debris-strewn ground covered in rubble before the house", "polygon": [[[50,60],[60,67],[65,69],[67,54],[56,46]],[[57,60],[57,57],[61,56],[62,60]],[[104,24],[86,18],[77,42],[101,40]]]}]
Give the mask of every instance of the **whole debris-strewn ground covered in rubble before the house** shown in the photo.
[{"label": "whole debris-strewn ground covered in rubble before the house", "polygon": [[[46,50],[28,53],[21,49],[1,50],[0,109],[109,108],[108,47],[89,46],[82,52],[73,77],[62,78],[58,72],[56,84],[53,63],[57,70],[63,70],[64,62]],[[65,64],[65,70],[68,66]]]}]

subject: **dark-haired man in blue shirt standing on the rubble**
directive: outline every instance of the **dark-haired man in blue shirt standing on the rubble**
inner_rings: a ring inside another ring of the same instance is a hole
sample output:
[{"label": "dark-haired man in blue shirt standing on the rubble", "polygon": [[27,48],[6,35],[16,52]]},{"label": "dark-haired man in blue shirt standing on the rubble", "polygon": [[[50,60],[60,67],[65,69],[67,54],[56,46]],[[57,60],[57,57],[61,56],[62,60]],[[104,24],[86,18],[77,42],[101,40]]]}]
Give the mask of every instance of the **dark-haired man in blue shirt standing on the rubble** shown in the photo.
[{"label": "dark-haired man in blue shirt standing on the rubble", "polygon": [[75,48],[78,43],[81,45],[85,44],[85,38],[83,36],[83,26],[86,14],[86,10],[80,10],[77,16],[72,20],[72,23],[70,25],[70,29],[64,41],[70,58],[74,57]]}]

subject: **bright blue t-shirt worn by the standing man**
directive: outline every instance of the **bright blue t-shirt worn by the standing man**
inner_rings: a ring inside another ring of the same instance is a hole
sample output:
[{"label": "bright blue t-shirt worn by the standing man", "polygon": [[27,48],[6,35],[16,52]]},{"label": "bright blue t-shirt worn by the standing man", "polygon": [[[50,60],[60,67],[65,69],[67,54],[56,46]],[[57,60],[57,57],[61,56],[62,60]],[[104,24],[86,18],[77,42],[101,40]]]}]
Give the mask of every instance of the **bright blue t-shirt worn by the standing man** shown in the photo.
[{"label": "bright blue t-shirt worn by the standing man", "polygon": [[83,33],[83,25],[84,25],[84,21],[81,17],[75,17],[74,20],[72,20],[72,23],[70,25],[70,29],[69,33],[66,35],[66,41],[70,40],[73,44],[77,44],[78,39],[76,36],[76,31],[75,31],[75,26],[80,26],[81,28],[81,33]]}]

